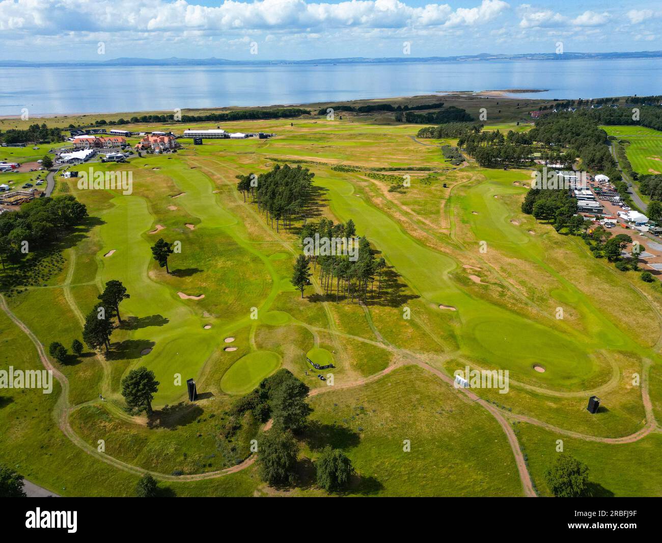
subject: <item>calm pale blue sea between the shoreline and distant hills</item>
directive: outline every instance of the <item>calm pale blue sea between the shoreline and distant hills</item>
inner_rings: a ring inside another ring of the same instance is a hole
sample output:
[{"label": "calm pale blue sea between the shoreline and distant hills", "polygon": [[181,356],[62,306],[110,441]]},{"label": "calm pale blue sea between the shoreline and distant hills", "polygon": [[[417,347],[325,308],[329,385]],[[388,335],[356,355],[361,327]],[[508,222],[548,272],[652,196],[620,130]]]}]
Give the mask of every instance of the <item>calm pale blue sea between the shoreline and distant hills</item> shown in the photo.
[{"label": "calm pale blue sea between the shoreline and distant hills", "polygon": [[273,66],[2,68],[0,115],[299,104],[547,89],[540,98],[662,94],[662,60],[547,60]]}]

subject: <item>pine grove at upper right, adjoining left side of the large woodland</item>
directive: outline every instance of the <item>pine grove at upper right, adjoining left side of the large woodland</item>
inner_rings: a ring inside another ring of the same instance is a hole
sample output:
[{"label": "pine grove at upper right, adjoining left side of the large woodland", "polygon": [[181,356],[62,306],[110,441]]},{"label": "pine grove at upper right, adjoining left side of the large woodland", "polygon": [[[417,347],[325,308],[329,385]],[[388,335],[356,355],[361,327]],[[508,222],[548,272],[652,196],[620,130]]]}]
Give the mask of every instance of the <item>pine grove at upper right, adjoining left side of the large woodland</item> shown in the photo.
[{"label": "pine grove at upper right, adjoining left side of the large woodland", "polygon": [[522,166],[533,160],[534,147],[528,133],[512,130],[471,132],[457,140],[457,147],[476,159],[481,166]]}]

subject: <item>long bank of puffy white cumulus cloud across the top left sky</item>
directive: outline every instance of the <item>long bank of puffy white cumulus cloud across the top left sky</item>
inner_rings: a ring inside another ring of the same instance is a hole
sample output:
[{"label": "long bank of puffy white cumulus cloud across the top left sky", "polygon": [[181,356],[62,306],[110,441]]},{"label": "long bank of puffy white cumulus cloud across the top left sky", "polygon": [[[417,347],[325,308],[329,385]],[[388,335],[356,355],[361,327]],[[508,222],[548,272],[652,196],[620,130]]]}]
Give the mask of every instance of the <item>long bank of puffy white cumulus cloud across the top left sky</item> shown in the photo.
[{"label": "long bank of puffy white cumulus cloud across the top left sky", "polygon": [[224,0],[204,6],[187,0],[2,0],[0,29],[42,30],[269,30],[473,26],[492,21],[508,9],[502,0],[483,0],[472,8],[448,4],[412,7],[399,0]]}]

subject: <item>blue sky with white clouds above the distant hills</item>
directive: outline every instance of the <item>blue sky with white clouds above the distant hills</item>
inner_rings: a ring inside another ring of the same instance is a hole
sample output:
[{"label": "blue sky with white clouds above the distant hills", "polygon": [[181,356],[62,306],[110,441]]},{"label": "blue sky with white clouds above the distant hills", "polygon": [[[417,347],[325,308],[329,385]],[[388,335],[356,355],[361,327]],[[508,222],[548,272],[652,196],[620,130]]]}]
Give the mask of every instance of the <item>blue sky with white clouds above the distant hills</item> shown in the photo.
[{"label": "blue sky with white clouds above the distant hills", "polygon": [[651,1],[0,0],[0,59],[662,50],[661,26]]}]

